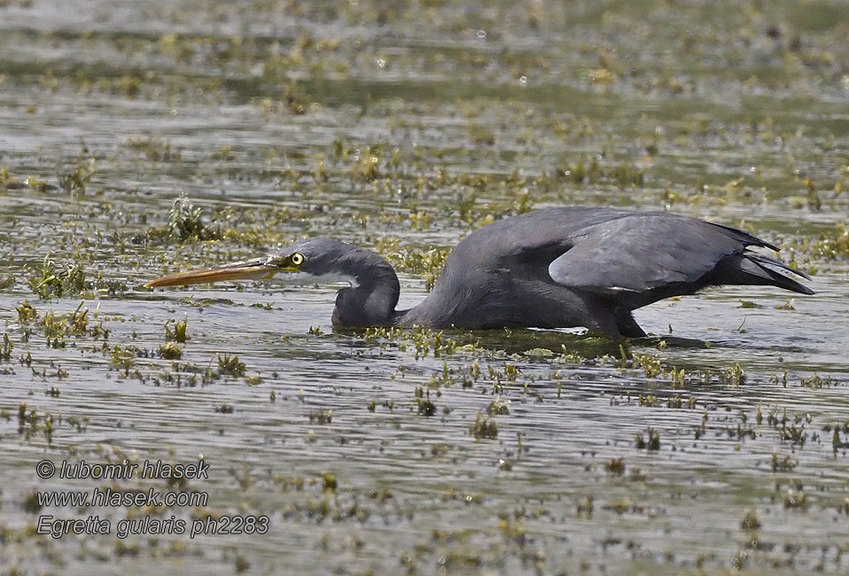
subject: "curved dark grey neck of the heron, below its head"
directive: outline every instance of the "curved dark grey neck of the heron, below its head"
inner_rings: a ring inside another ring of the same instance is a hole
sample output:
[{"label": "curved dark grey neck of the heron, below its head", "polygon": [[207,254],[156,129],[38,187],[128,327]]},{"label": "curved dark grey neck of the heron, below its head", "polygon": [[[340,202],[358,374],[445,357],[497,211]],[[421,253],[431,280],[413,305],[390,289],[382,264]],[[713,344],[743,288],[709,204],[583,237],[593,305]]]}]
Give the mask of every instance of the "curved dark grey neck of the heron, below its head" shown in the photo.
[{"label": "curved dark grey neck of the heron, below its head", "polygon": [[392,326],[395,305],[401,294],[398,276],[388,261],[376,253],[356,250],[347,260],[345,273],[356,285],[343,288],[333,308],[333,325],[340,328]]}]

